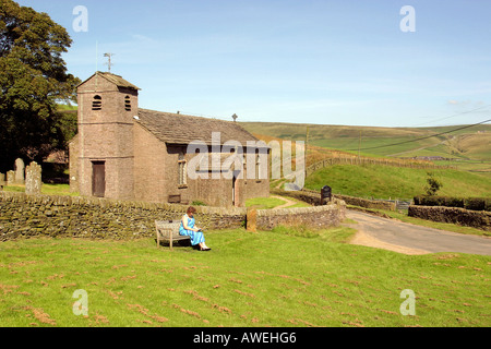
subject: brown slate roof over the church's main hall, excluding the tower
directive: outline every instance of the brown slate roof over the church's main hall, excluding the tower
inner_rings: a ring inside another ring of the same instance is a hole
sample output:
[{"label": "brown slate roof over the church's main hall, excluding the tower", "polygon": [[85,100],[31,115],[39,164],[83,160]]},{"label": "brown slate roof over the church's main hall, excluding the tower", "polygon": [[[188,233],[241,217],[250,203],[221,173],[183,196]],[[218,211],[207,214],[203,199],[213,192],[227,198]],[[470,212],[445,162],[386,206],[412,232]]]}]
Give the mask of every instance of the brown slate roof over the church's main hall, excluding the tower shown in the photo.
[{"label": "brown slate roof over the church's main hall, excluding the tower", "polygon": [[211,145],[213,132],[220,133],[220,144],[227,141],[238,141],[242,146],[247,146],[248,141],[258,141],[251,133],[232,121],[142,108],[139,109],[137,117],[139,120],[135,120],[137,123],[167,144],[189,144],[193,141],[203,141]]}]

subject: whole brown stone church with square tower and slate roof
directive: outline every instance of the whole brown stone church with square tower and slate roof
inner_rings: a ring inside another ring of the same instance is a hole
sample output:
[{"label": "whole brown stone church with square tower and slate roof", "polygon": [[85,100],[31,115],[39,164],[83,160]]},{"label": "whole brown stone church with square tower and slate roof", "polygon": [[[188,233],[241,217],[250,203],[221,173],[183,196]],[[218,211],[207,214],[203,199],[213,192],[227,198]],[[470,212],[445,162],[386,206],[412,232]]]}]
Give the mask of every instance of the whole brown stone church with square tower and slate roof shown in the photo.
[{"label": "whole brown stone church with square tower and slate roof", "polygon": [[[263,168],[267,163],[270,149],[258,139],[235,121],[141,109],[139,91],[107,72],[96,72],[77,86],[79,133],[70,143],[72,191],[83,196],[239,207],[250,197],[270,195],[270,177],[258,170],[261,160]],[[188,176],[188,166],[202,154],[189,152],[196,141],[207,153],[200,160],[199,176]],[[212,157],[219,159],[218,167],[208,160]]]}]

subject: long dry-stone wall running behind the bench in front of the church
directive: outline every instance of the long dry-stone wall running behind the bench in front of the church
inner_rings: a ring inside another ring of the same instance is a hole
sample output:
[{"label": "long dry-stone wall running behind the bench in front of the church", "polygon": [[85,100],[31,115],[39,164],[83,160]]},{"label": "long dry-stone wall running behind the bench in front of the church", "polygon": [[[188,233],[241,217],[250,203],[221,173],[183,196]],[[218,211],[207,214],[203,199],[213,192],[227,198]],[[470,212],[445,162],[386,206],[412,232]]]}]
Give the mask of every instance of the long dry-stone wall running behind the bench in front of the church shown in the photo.
[{"label": "long dry-stone wall running behind the bench in front of the church", "polygon": [[[332,207],[331,207],[332,206]],[[314,221],[335,226],[343,205],[259,210],[259,228]],[[0,192],[0,241],[31,237],[134,239],[155,237],[155,220],[180,219],[188,205]],[[244,207],[195,206],[196,224],[208,229],[246,227]]]}]

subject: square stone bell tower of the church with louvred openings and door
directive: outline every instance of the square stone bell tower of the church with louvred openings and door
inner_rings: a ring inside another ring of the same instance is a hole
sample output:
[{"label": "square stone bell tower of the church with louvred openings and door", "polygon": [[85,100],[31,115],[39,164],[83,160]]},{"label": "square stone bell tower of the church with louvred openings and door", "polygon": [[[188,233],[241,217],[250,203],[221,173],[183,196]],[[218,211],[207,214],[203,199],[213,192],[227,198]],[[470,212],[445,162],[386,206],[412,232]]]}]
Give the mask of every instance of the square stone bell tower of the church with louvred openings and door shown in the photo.
[{"label": "square stone bell tower of the church with louvred openings and door", "polygon": [[81,195],[134,197],[133,117],[139,87],[96,72],[77,87],[79,189]]}]

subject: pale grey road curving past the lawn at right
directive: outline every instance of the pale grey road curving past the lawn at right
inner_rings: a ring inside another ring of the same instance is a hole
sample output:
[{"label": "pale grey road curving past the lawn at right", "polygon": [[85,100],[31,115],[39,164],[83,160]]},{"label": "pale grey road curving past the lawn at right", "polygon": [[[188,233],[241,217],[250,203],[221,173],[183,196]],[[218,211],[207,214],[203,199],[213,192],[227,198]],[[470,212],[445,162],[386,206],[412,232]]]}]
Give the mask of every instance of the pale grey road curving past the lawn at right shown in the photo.
[{"label": "pale grey road curving past the lawn at right", "polygon": [[488,237],[427,228],[351,209],[346,216],[358,222],[347,225],[358,230],[351,240],[354,244],[406,254],[462,252],[491,255],[491,238]]}]

